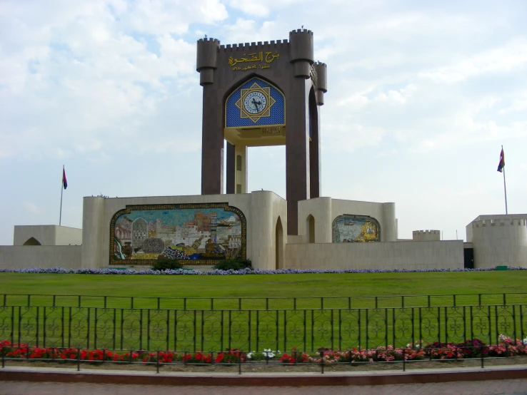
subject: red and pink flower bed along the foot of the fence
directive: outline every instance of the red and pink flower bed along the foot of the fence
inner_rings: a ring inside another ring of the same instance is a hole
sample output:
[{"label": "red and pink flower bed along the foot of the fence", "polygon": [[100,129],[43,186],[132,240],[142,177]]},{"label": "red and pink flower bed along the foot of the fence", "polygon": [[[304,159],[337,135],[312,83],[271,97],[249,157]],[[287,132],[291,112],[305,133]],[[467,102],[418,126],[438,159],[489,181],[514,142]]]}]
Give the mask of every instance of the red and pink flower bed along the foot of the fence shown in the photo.
[{"label": "red and pink flower bed along the foot of the fence", "polygon": [[[0,341],[0,353],[7,359],[40,359],[55,361],[87,361],[101,363],[143,362],[144,364],[170,364],[183,362],[185,364],[240,364],[248,360],[247,354],[239,349],[226,349],[218,354],[207,354],[201,351],[177,353],[160,352],[112,352],[107,349],[86,350],[76,348],[29,347],[27,344],[11,344]],[[500,336],[499,343],[487,346],[479,339],[467,340],[463,343],[408,344],[406,348],[396,349],[393,346],[377,349],[352,349],[339,351],[321,348],[316,353],[298,352],[293,347],[290,353],[279,353],[278,360],[282,364],[305,364],[337,362],[376,362],[376,361],[412,361],[419,359],[467,359],[491,356],[527,355],[527,344],[519,339]],[[274,354],[273,354],[274,356]]]}]

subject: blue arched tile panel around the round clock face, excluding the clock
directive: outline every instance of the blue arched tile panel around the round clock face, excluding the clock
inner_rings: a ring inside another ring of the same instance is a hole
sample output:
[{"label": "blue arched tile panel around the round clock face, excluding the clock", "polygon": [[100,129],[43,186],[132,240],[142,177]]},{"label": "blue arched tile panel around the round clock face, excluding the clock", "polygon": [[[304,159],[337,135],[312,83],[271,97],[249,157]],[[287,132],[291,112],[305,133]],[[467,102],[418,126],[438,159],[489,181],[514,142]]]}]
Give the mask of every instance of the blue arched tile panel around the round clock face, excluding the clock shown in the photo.
[{"label": "blue arched tile panel around the round clock face, excluding the clock", "polygon": [[[241,103],[239,103],[242,92],[251,89],[260,88],[264,93],[268,93],[271,99],[268,102],[268,111],[260,114],[258,117],[248,118],[243,116]],[[283,93],[270,83],[260,79],[251,78],[249,81],[239,86],[226,101],[225,126],[226,128],[239,128],[249,126],[269,126],[284,125],[286,123],[286,106]],[[256,122],[255,122],[256,120]]]}]

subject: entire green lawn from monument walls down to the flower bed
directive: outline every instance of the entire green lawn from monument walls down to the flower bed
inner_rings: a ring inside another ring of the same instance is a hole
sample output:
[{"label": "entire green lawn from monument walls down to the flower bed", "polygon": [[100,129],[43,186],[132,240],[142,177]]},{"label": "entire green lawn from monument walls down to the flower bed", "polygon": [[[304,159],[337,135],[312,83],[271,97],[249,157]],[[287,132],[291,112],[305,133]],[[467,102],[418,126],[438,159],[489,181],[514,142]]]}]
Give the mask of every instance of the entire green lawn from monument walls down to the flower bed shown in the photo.
[{"label": "entire green lawn from monument walls down to the flower bed", "polygon": [[[416,339],[463,342],[471,337],[490,343],[497,341],[498,334],[527,333],[526,280],[527,271],[244,276],[0,273],[0,340],[47,347],[216,351],[367,348],[401,346]],[[31,307],[26,307],[27,294],[32,295]],[[69,296],[44,296],[54,294]],[[457,307],[453,294],[458,295]],[[475,307],[478,294],[483,307]],[[503,294],[508,306],[502,305]],[[76,295],[92,296],[82,297],[79,304]],[[404,307],[416,308],[391,309],[403,304],[397,295],[408,295]],[[428,302],[432,309],[423,308]],[[268,311],[263,311],[266,307]]]}]

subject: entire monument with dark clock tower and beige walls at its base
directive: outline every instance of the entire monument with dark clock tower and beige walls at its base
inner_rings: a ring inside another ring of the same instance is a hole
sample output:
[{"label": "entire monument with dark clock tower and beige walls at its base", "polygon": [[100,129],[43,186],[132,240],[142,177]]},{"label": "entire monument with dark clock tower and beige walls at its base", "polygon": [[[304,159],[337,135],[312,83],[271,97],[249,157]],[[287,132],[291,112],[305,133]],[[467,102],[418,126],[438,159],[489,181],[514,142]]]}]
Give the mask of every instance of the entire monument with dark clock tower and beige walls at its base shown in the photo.
[{"label": "entire monument with dark clock tower and beige walls at its base", "polygon": [[[199,40],[201,195],[84,198],[82,230],[16,226],[0,268],[138,268],[160,259],[206,267],[236,258],[259,269],[527,265],[527,215],[480,216],[467,243],[441,241],[437,230],[399,240],[393,202],[321,197],[328,88],[326,64],[314,59],[313,33],[303,29],[278,41]],[[286,145],[286,199],[248,193],[248,148],[268,145]]]}]

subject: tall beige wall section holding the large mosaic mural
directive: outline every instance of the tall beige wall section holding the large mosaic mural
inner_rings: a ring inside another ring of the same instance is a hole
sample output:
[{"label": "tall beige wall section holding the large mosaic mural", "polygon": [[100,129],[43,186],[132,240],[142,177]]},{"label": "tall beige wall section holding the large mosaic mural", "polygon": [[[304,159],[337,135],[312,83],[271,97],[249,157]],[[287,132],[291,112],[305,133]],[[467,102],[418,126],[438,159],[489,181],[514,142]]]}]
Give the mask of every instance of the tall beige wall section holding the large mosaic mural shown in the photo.
[{"label": "tall beige wall section holding the large mosaic mural", "polygon": [[[84,198],[82,267],[145,267],[159,258],[211,265],[249,258],[274,269],[276,242],[286,243],[286,200],[240,195]],[[281,240],[276,237],[280,217]]]}]

